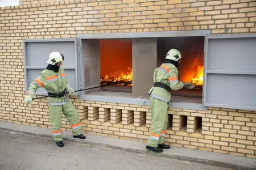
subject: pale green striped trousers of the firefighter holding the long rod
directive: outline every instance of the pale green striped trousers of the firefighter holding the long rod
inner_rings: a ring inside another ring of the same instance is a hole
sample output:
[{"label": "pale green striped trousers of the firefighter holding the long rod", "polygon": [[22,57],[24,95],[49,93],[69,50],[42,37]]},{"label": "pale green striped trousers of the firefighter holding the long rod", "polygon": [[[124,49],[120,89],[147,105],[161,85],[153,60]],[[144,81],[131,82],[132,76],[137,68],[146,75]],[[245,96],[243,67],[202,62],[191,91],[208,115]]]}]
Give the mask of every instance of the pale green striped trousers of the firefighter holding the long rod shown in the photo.
[{"label": "pale green striped trousers of the firefighter holding the long rod", "polygon": [[49,104],[49,121],[51,122],[52,135],[55,142],[63,140],[61,130],[62,113],[67,118],[69,125],[71,125],[73,135],[80,135],[82,133],[79,114],[70,100],[65,105]]}]

